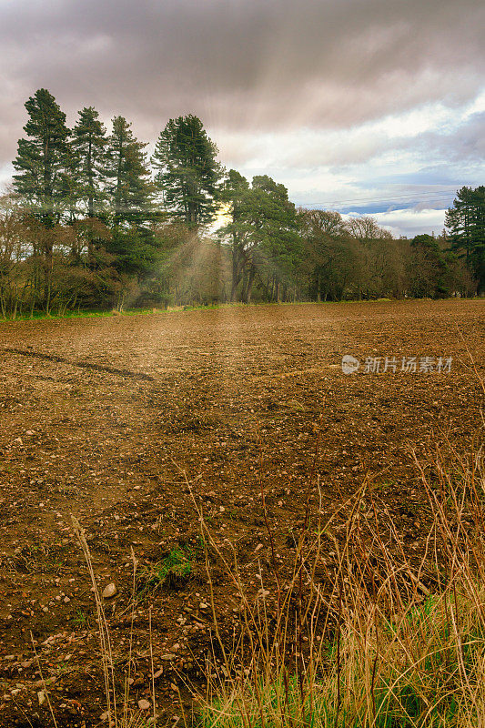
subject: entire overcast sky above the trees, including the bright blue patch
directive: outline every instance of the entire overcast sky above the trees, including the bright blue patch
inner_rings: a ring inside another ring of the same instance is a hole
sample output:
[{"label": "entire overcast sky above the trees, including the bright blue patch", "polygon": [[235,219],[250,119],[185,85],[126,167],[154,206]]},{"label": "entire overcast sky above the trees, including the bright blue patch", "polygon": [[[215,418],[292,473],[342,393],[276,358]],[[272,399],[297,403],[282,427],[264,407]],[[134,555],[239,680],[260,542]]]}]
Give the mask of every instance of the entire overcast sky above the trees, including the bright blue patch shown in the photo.
[{"label": "entire overcast sky above the trees, including the bright blue patch", "polygon": [[0,180],[45,87],[151,143],[197,114],[298,204],[439,232],[485,184],[484,27],[480,0],[0,0]]}]

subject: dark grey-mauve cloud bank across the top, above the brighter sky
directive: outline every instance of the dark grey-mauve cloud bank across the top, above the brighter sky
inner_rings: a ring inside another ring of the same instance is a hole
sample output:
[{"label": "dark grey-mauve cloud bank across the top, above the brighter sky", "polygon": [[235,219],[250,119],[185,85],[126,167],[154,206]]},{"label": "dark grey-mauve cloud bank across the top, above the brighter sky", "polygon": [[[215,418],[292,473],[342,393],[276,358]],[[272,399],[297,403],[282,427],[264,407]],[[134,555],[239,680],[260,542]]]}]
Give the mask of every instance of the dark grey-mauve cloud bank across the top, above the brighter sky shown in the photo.
[{"label": "dark grey-mauve cloud bank across the top, above the brighter sky", "polygon": [[460,106],[483,20],[476,0],[0,0],[0,163],[39,86],[147,139],[188,111],[255,133]]}]

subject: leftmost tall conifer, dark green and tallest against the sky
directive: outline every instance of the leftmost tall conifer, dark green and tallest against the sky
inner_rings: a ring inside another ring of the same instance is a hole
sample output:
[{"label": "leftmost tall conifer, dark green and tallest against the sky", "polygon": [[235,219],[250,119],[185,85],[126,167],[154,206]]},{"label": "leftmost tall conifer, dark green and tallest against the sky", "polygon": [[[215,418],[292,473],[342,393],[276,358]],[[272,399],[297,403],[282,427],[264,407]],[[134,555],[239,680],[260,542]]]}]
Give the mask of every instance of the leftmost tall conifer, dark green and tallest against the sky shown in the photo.
[{"label": "leftmost tall conifer, dark green and tallest against the sky", "polygon": [[19,139],[14,167],[16,192],[33,207],[46,227],[53,227],[62,212],[68,169],[66,114],[47,89],[40,88],[25,103],[29,118],[27,138]]}]

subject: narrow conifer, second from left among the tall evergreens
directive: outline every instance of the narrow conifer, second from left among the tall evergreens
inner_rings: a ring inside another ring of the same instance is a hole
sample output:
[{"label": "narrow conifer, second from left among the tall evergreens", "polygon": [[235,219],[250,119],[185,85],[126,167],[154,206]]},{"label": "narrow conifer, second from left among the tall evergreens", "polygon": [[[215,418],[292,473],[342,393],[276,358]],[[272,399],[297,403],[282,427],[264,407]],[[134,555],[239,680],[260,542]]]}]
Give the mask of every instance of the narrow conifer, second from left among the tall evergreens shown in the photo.
[{"label": "narrow conifer, second from left among the tall evergreens", "polygon": [[76,197],[86,207],[87,217],[95,217],[103,198],[106,128],[93,106],[79,112],[72,147],[78,165]]}]

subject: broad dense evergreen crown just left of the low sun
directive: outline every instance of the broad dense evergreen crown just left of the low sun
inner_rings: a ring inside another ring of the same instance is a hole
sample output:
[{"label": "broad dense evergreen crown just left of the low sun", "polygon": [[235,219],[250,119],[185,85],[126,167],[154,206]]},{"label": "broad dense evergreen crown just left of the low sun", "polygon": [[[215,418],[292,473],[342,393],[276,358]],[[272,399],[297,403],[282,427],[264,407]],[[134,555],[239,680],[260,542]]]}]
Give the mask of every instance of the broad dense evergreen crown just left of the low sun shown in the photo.
[{"label": "broad dense evergreen crown just left of the low sun", "polygon": [[161,132],[152,157],[157,185],[167,210],[190,227],[215,217],[217,182],[221,167],[217,146],[197,116],[170,119]]}]

